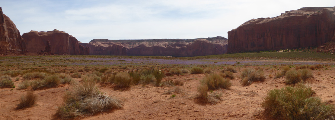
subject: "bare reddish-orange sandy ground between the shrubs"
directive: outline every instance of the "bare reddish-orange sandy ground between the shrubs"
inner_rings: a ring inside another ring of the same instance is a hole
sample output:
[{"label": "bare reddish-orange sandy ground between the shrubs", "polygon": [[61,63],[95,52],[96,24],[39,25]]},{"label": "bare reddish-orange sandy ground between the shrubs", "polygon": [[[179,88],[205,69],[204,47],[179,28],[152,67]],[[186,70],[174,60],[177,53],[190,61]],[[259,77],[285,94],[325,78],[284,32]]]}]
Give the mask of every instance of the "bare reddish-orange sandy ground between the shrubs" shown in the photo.
[{"label": "bare reddish-orange sandy ground between the shrubs", "polygon": [[[241,61],[246,63],[245,61]],[[255,62],[250,61],[249,62]],[[284,63],[284,64],[283,64]],[[133,85],[127,89],[120,89],[114,84],[97,83],[97,87],[101,92],[107,93],[120,99],[123,104],[122,109],[114,109],[108,112],[100,112],[92,116],[86,116],[77,119],[97,120],[97,119],[116,119],[116,120],[263,120],[267,119],[262,115],[264,110],[261,107],[263,98],[267,92],[272,89],[280,89],[284,86],[284,77],[269,78],[268,75],[279,71],[277,68],[283,65],[304,65],[316,64],[318,61],[301,62],[301,61],[263,61],[255,66],[237,65],[237,73],[234,73],[235,79],[231,80],[232,86],[230,89],[220,89],[215,92],[222,93],[222,101],[217,104],[204,104],[196,99],[198,94],[197,86],[205,74],[182,74],[167,76],[162,81],[180,80],[184,85],[178,86],[183,89],[185,94],[175,94],[176,97],[171,97],[172,94],[167,94],[176,86],[160,86],[154,85]],[[334,63],[327,62],[321,64],[329,64],[327,67],[313,70],[314,79],[307,83],[316,91],[317,96],[323,101],[335,100],[335,68]],[[146,63],[144,63],[146,64]],[[276,68],[274,68],[274,65]],[[143,64],[142,64],[143,65]],[[192,65],[186,65],[192,66]],[[214,67],[213,67],[214,66]],[[212,72],[219,72],[220,65],[213,65]],[[43,67],[43,66],[42,66]],[[78,65],[67,66],[67,68]],[[79,65],[79,67],[82,67]],[[170,66],[171,67],[171,66]],[[55,67],[50,67],[55,69]],[[263,69],[266,79],[264,82],[254,82],[250,86],[242,86],[241,72],[245,68]],[[294,69],[294,68],[291,68]],[[111,68],[111,70],[113,70]],[[168,72],[166,69],[165,72]],[[89,72],[87,72],[89,73]],[[68,73],[70,74],[70,73]],[[85,74],[85,72],[84,72]],[[22,76],[18,76],[19,80],[14,82],[18,86],[23,82]],[[73,78],[80,82],[80,78]],[[33,107],[25,109],[15,109],[19,102],[20,96],[24,95],[31,89],[17,88],[1,88],[0,89],[0,119],[3,120],[50,120],[60,119],[56,115],[58,106],[62,105],[63,96],[67,91],[72,91],[72,86],[62,84],[56,88],[45,88],[34,90],[38,95],[38,101]],[[333,96],[334,95],[334,96]],[[331,103],[334,104],[334,103]]]}]

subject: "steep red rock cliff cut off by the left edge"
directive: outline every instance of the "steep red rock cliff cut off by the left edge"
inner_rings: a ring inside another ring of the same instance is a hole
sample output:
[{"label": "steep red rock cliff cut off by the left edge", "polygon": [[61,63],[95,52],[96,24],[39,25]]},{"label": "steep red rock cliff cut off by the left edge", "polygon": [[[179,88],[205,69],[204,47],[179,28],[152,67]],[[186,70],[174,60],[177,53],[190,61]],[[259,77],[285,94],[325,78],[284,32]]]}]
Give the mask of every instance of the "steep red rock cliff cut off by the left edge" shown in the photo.
[{"label": "steep red rock cliff cut off by the left edge", "polygon": [[13,21],[2,13],[0,7],[0,54],[23,54],[26,52],[25,41],[21,38],[19,30]]}]

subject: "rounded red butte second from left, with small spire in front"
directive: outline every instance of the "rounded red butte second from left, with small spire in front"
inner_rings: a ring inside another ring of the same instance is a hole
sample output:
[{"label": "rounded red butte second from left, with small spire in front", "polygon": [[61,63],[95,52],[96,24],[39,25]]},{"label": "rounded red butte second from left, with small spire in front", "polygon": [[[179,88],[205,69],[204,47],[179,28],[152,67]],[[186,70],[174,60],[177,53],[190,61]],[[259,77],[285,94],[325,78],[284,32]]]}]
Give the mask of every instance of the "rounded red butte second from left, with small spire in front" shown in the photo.
[{"label": "rounded red butte second from left, with small spire in front", "polygon": [[64,31],[56,29],[48,32],[30,31],[24,33],[22,38],[26,41],[30,53],[41,52],[50,46],[51,53],[58,55],[89,55],[89,48],[79,45],[75,37]]}]

